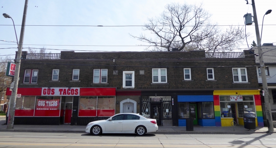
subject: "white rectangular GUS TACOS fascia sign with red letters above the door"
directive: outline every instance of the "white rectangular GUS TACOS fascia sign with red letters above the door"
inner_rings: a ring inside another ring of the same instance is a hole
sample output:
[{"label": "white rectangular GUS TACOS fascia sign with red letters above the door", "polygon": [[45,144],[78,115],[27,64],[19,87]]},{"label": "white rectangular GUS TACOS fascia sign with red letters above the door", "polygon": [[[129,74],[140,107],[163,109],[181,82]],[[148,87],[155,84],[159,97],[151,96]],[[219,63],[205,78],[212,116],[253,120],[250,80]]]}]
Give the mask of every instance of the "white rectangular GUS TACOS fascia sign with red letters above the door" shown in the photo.
[{"label": "white rectangular GUS TACOS fascia sign with red letters above the door", "polygon": [[79,96],[79,88],[47,88],[43,87],[41,96]]}]

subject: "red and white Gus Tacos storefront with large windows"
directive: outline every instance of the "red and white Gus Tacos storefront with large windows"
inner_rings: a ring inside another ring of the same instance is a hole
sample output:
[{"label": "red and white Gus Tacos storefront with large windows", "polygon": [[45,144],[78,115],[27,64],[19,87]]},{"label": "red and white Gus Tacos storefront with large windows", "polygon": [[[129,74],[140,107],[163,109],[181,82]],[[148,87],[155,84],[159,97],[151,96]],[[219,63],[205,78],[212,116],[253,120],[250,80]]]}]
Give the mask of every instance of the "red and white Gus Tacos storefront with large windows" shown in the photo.
[{"label": "red and white Gus Tacos storefront with large windows", "polygon": [[18,88],[17,94],[14,124],[79,125],[115,115],[116,88]]}]

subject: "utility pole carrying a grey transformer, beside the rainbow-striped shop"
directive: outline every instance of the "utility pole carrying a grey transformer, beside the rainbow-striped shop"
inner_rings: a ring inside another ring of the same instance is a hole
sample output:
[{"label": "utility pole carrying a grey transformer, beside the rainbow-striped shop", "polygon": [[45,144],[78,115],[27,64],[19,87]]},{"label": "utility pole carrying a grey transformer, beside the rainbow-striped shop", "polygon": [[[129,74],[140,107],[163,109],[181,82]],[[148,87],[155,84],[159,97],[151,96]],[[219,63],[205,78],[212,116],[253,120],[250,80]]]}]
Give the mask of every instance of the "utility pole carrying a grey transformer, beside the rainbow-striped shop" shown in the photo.
[{"label": "utility pole carrying a grey transformer, beside the rainbow-striped shop", "polygon": [[254,22],[255,22],[256,37],[257,37],[257,45],[258,45],[258,53],[259,53],[260,69],[261,69],[261,75],[262,75],[263,90],[264,90],[264,101],[265,101],[267,127],[268,127],[268,131],[274,131],[270,101],[269,101],[269,96],[268,96],[266,71],[265,71],[265,65],[264,65],[264,60],[263,60],[263,51],[261,49],[261,39],[260,39],[260,32],[259,32],[257,13],[256,13],[256,7],[255,7],[254,0],[252,0],[252,7],[253,7],[253,15],[254,15]]}]

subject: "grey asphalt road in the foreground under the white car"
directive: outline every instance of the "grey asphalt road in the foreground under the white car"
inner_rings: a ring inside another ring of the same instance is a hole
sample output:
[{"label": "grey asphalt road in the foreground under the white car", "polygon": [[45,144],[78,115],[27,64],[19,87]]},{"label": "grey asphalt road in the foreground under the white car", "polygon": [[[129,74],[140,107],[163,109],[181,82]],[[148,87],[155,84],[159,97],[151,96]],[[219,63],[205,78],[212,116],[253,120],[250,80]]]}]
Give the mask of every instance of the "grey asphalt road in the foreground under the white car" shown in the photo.
[{"label": "grey asphalt road in the foreground under the white car", "polygon": [[276,148],[268,134],[102,134],[0,132],[0,147]]}]

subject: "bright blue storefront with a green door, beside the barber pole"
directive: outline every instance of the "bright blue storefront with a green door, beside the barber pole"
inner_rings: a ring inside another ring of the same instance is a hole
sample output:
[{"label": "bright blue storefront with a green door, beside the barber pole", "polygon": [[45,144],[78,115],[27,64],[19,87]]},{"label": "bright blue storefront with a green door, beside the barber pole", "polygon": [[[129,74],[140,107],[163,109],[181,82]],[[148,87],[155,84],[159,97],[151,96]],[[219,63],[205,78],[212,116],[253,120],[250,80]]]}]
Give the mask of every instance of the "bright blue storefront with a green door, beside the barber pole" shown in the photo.
[{"label": "bright blue storefront with a green door, beside the barber pole", "polygon": [[194,125],[216,126],[213,95],[178,96],[178,126],[186,126],[186,119]]}]

